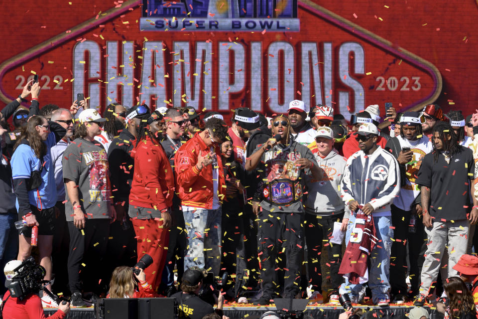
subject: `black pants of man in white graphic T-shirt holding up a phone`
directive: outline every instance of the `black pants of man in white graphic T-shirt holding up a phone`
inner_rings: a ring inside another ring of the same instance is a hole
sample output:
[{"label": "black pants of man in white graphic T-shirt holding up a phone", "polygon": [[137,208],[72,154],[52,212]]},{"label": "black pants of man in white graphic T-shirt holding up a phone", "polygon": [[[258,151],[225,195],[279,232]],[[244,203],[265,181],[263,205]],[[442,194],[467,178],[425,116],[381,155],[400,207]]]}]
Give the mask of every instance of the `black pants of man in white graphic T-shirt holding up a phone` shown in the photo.
[{"label": "black pants of man in white graphic T-shirt holding up a phone", "polygon": [[[391,205],[392,225],[394,229],[394,239],[390,254],[390,286],[393,295],[403,294],[414,296],[418,293],[420,286],[420,272],[421,266],[424,262],[422,252],[423,246],[426,247],[424,241],[423,223],[417,217],[415,225],[415,232],[408,231],[410,224],[410,216],[412,211],[402,210],[394,205]],[[407,248],[409,265],[407,264]],[[405,282],[407,278],[407,271],[409,270],[411,290],[408,292],[408,287]]]}]

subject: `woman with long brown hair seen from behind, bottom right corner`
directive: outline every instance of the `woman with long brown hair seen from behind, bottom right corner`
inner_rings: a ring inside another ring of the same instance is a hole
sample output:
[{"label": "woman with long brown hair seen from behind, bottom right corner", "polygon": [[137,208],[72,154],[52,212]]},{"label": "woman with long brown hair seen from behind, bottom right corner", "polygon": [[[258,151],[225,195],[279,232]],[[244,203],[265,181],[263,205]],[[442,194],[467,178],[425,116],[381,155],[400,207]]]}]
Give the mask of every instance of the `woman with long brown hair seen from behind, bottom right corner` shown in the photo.
[{"label": "woman with long brown hair seen from behind, bottom right corner", "polygon": [[475,319],[477,311],[472,293],[460,277],[448,278],[443,288],[448,297],[445,318]]}]

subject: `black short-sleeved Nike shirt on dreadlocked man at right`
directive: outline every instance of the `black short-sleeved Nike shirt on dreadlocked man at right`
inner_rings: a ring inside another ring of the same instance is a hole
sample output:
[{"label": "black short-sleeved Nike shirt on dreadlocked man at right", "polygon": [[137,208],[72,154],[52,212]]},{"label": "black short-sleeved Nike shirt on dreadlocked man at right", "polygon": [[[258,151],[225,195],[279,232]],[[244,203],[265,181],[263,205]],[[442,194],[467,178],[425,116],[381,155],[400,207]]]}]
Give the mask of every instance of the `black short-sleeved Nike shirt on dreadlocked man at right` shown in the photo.
[{"label": "black short-sleeved Nike shirt on dreadlocked man at right", "polygon": [[416,183],[430,187],[430,215],[435,221],[463,220],[472,210],[470,187],[475,179],[475,161],[472,150],[460,147],[459,153],[447,163],[440,154],[425,155],[417,174]]}]

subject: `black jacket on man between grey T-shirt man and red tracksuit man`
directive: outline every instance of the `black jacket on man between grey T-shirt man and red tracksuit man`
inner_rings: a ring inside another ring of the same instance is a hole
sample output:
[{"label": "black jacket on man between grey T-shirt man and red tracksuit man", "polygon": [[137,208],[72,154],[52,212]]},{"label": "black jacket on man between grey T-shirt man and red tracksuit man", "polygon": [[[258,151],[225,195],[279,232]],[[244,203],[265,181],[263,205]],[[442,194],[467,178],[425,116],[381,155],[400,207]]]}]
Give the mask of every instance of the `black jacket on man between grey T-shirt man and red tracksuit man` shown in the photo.
[{"label": "black jacket on man between grey T-shirt man and red tracksuit man", "polygon": [[134,154],[131,154],[131,151],[135,144],[136,138],[124,129],[118,137],[113,139],[108,149],[111,189],[115,203],[124,201],[127,204],[129,202],[134,173]]}]

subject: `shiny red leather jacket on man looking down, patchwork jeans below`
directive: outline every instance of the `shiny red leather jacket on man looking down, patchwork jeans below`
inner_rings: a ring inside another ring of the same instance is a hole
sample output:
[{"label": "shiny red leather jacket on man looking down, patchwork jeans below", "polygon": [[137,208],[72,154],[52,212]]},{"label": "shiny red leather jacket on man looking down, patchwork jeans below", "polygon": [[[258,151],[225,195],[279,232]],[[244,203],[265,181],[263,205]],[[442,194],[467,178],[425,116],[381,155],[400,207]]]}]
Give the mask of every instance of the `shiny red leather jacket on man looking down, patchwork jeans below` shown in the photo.
[{"label": "shiny red leather jacket on man looking down, patchwork jeans below", "polygon": [[[174,156],[174,170],[176,171],[176,191],[181,204],[204,209],[213,208],[213,167],[208,165],[201,171],[196,168],[198,154],[206,155],[210,148],[199,137],[199,133],[183,144]],[[215,148],[218,159],[218,197],[222,202],[226,195],[226,181],[224,179],[223,163],[219,147]],[[223,187],[224,186],[224,187]]]}]

